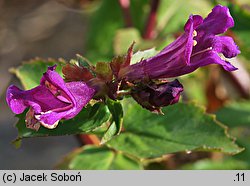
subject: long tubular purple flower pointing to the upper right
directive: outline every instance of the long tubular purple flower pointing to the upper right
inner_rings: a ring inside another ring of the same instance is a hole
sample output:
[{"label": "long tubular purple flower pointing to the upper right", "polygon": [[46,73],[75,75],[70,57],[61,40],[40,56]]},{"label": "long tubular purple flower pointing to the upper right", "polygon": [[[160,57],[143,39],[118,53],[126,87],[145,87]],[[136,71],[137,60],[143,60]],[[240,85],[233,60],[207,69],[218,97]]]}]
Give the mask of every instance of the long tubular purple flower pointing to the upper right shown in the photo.
[{"label": "long tubular purple flower pointing to the upper right", "polygon": [[219,64],[227,71],[236,70],[225,60],[240,53],[233,39],[217,36],[234,26],[227,7],[217,5],[203,20],[191,15],[185,33],[156,56],[123,68],[119,77],[128,81],[171,78],[193,72],[199,67]]}]

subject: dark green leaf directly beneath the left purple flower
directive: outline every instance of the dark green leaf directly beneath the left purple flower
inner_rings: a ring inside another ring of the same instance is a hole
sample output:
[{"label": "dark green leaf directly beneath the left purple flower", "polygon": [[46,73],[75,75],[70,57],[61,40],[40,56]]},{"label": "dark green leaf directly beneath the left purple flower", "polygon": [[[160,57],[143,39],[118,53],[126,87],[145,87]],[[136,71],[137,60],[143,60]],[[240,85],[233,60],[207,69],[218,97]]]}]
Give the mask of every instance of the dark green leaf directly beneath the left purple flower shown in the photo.
[{"label": "dark green leaf directly beneath the left purple flower", "polygon": [[41,126],[38,131],[26,128],[25,113],[17,115],[17,117],[19,118],[19,121],[16,124],[18,129],[18,138],[16,141],[22,138],[38,136],[46,137],[90,133],[99,128],[103,123],[107,122],[110,113],[105,104],[96,103],[93,106],[88,105],[86,108],[83,108],[73,119],[60,121],[58,126],[53,130]]}]

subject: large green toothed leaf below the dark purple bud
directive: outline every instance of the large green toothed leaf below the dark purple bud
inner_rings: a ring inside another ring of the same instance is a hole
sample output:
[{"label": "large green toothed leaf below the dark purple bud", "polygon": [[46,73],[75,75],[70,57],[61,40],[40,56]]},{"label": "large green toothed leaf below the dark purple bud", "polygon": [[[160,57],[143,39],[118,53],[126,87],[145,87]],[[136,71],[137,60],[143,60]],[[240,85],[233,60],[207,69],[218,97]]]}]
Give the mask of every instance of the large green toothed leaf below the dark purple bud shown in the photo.
[{"label": "large green toothed leaf below the dark purple bud", "polygon": [[193,104],[179,103],[156,115],[126,103],[125,132],[107,144],[138,158],[156,158],[180,151],[219,151],[236,154],[239,148],[227,128]]}]

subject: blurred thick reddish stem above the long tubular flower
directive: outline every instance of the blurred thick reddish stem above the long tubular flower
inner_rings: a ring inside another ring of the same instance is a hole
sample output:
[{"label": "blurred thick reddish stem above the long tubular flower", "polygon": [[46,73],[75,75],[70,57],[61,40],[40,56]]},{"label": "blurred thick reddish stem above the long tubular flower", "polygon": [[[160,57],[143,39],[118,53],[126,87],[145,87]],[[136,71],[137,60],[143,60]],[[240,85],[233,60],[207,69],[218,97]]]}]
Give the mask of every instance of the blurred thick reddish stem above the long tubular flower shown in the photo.
[{"label": "blurred thick reddish stem above the long tubular flower", "polygon": [[154,38],[154,28],[156,25],[156,13],[159,7],[160,0],[151,0],[151,10],[148,16],[148,20],[145,27],[145,32],[143,35],[144,39],[153,39]]}]

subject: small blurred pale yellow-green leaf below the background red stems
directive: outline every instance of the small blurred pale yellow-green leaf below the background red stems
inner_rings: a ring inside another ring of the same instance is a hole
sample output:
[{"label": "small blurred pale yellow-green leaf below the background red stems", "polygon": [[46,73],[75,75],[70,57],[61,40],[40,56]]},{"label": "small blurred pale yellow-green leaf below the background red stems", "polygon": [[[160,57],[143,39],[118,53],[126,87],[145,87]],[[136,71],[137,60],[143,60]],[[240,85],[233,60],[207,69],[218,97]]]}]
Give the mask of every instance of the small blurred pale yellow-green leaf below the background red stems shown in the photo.
[{"label": "small blurred pale yellow-green leaf below the background red stems", "polygon": [[140,44],[142,38],[140,32],[135,28],[124,28],[116,31],[114,38],[114,53],[115,55],[126,54],[128,48],[133,42]]}]

